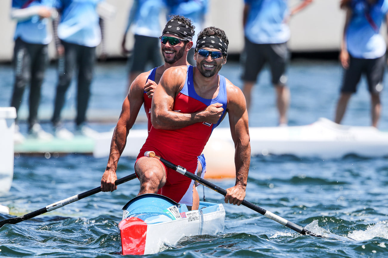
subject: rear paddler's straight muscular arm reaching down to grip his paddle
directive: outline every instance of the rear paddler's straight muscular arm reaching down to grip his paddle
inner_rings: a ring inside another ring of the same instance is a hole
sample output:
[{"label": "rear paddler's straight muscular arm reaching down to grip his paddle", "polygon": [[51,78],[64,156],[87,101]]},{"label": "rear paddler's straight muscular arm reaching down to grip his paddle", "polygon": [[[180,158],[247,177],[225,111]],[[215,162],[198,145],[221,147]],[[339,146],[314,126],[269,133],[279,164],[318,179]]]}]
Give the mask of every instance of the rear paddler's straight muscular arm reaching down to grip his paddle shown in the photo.
[{"label": "rear paddler's straight muscular arm reaching down to grip his paddle", "polygon": [[117,163],[125,148],[129,130],[135,123],[139,110],[143,104],[146,76],[146,73],[142,73],[133,81],[128,96],[124,100],[119,120],[113,132],[108,163],[101,178],[102,191],[113,191],[117,188],[117,186],[114,185],[117,179]]}]

